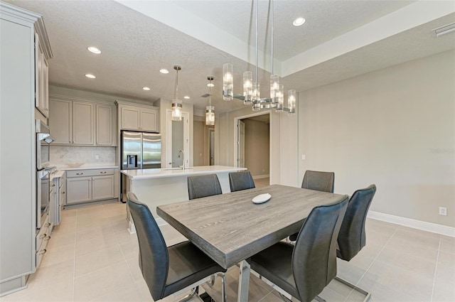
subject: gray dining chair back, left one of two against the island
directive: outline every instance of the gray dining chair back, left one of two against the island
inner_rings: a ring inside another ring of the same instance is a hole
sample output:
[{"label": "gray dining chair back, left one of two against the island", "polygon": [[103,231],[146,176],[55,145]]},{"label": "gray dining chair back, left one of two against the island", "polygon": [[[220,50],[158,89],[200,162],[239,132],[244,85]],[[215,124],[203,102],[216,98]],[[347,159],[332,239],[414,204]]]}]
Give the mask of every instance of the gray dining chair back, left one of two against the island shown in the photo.
[{"label": "gray dining chair back, left one of two against the island", "polygon": [[188,197],[190,200],[222,193],[220,180],[216,174],[188,176]]}]

